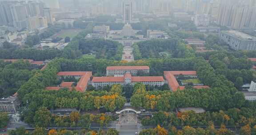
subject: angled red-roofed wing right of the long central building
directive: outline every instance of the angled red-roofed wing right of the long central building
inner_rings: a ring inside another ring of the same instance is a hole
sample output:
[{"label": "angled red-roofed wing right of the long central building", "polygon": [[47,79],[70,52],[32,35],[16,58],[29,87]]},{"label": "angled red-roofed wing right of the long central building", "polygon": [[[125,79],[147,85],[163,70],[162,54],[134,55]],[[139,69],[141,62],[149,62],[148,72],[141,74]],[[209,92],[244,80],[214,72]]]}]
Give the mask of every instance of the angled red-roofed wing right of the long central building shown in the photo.
[{"label": "angled red-roofed wing right of the long central building", "polygon": [[[177,91],[178,89],[184,90],[185,86],[180,86],[175,75],[184,75],[185,77],[197,77],[196,71],[164,71],[164,77],[168,82],[168,86],[172,91]],[[209,86],[193,86],[196,89],[209,88]]]}]

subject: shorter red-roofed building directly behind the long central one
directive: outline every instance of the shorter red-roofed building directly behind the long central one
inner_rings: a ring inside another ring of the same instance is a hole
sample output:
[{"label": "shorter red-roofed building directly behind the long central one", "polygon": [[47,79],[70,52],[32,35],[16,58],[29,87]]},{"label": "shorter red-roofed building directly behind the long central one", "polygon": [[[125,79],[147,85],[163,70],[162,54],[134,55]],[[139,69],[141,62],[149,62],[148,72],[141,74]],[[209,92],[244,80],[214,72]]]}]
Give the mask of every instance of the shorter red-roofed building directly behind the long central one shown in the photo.
[{"label": "shorter red-roofed building directly behind the long central one", "polygon": [[136,76],[138,72],[149,73],[148,66],[112,66],[107,67],[107,76],[111,75],[125,75],[125,73],[130,72],[131,75]]}]

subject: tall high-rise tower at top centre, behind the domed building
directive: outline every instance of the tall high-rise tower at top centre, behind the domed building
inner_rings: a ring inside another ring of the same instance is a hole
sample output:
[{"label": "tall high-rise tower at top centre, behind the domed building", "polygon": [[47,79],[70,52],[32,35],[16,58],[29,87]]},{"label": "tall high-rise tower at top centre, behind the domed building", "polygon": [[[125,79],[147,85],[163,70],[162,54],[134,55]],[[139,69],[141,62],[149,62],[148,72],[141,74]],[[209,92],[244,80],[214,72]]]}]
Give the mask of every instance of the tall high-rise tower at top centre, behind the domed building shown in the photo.
[{"label": "tall high-rise tower at top centre, behind the domed building", "polygon": [[123,21],[124,23],[132,22],[132,1],[130,0],[123,2]]}]

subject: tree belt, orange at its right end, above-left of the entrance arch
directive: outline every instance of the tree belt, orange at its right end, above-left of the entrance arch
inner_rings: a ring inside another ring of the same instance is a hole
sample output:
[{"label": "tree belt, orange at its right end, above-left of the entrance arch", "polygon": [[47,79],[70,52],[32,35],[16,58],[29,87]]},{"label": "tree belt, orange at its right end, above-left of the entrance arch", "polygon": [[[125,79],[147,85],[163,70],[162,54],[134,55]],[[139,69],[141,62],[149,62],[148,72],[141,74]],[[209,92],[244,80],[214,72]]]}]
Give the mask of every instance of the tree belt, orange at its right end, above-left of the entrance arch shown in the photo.
[{"label": "tree belt, orange at its right end, above-left of the entrance arch", "polygon": [[[110,92],[91,91],[84,93],[68,90],[34,90],[23,98],[23,103],[28,102],[29,104],[28,108],[22,112],[24,121],[27,123],[40,122],[41,120],[35,119],[36,111],[40,107],[47,107],[48,109],[80,108],[84,111],[94,111],[102,108],[106,111],[120,109],[124,106],[125,98],[120,96],[122,89],[118,87],[114,85]],[[65,123],[65,120],[62,121]]]}]

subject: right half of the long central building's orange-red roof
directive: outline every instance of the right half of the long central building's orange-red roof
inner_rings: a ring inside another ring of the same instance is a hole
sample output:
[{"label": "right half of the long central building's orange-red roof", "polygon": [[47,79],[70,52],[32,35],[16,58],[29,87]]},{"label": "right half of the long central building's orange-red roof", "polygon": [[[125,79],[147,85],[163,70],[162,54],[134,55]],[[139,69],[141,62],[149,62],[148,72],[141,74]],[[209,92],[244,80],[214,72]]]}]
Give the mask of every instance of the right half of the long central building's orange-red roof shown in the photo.
[{"label": "right half of the long central building's orange-red roof", "polygon": [[163,76],[133,76],[132,82],[164,82]]}]

